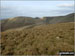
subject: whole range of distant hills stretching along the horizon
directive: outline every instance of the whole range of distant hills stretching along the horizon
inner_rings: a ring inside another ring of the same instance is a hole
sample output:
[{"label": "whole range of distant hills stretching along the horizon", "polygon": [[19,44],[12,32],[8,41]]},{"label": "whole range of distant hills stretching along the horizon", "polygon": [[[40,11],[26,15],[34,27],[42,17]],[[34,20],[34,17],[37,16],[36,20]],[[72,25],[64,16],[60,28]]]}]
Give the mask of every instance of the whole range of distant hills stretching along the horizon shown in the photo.
[{"label": "whole range of distant hills stretching along the horizon", "polygon": [[13,28],[20,28],[33,24],[54,24],[62,22],[74,22],[74,13],[66,16],[56,16],[56,17],[43,17],[40,19],[38,17],[14,17],[9,19],[1,20],[1,31],[5,31]]}]

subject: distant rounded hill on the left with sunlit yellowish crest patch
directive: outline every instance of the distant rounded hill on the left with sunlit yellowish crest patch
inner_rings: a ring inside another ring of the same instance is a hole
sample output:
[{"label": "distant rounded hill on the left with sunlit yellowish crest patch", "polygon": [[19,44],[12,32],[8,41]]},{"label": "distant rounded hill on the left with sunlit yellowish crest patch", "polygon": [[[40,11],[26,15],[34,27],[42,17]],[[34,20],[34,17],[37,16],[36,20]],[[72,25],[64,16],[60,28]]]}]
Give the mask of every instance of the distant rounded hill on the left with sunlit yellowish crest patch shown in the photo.
[{"label": "distant rounded hill on the left with sunlit yellowish crest patch", "polygon": [[1,20],[1,30],[4,31],[8,29],[28,26],[28,25],[39,23],[40,21],[41,21],[40,19],[34,19],[31,17],[22,17],[22,16],[4,19]]}]

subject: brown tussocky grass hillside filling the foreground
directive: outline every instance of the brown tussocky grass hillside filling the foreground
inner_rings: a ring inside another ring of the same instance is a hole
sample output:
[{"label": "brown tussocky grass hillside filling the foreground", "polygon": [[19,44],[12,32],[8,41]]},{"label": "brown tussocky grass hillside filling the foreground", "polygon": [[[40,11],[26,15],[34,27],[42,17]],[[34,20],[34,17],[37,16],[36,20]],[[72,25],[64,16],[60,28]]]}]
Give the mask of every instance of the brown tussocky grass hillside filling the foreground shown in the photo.
[{"label": "brown tussocky grass hillside filling the foreground", "polygon": [[4,55],[55,55],[74,50],[74,23],[44,24],[1,34]]}]

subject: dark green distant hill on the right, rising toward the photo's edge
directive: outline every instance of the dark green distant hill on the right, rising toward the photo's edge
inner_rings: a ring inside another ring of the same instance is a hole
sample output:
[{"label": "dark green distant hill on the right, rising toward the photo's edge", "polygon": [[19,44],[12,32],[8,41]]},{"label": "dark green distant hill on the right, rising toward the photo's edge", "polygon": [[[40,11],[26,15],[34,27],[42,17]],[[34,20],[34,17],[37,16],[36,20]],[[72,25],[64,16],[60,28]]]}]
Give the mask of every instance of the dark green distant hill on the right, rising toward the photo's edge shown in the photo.
[{"label": "dark green distant hill on the right, rising toward the photo's edge", "polygon": [[46,23],[74,22],[74,13],[66,16],[44,17]]}]

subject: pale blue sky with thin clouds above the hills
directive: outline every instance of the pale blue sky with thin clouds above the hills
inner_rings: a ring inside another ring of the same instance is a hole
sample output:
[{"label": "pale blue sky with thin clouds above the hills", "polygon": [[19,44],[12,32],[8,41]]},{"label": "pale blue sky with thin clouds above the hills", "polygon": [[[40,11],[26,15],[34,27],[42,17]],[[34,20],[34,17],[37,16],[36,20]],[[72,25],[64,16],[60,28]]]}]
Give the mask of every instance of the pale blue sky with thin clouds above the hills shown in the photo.
[{"label": "pale blue sky with thin clouds above the hills", "polygon": [[62,16],[74,12],[74,1],[1,1],[0,19]]}]

